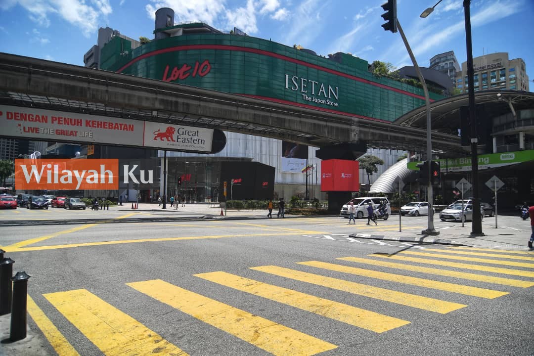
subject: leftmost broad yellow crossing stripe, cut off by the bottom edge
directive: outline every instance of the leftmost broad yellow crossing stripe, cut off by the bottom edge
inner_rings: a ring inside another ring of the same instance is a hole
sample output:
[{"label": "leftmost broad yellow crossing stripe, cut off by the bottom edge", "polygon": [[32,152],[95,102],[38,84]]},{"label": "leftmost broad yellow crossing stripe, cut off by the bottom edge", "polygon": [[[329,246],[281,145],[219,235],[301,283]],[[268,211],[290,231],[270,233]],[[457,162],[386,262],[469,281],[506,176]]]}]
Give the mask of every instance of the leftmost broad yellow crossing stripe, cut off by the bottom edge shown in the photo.
[{"label": "leftmost broad yellow crossing stripe, cut off by the bottom edge", "polygon": [[107,356],[187,355],[86,289],[43,296]]}]

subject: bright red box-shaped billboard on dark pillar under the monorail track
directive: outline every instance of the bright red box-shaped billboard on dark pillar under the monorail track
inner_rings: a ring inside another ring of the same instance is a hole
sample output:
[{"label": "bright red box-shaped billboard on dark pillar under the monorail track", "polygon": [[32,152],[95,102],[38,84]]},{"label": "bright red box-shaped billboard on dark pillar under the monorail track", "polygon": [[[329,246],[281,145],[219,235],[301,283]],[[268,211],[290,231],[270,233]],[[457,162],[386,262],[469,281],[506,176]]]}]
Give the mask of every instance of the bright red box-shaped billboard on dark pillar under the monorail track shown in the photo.
[{"label": "bright red box-shaped billboard on dark pillar under the monorail track", "polygon": [[358,161],[321,162],[321,192],[358,192],[359,182]]}]

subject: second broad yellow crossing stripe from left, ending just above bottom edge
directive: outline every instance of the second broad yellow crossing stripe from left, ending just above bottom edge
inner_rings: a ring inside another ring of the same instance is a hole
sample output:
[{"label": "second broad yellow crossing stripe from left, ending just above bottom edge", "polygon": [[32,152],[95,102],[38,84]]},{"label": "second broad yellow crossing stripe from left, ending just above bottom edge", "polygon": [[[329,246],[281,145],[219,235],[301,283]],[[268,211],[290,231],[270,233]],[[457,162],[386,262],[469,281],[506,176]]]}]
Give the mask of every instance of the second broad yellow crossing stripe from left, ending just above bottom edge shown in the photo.
[{"label": "second broad yellow crossing stripe from left, ending just above bottom edge", "polygon": [[337,347],[162,280],[126,284],[274,355],[314,355]]}]

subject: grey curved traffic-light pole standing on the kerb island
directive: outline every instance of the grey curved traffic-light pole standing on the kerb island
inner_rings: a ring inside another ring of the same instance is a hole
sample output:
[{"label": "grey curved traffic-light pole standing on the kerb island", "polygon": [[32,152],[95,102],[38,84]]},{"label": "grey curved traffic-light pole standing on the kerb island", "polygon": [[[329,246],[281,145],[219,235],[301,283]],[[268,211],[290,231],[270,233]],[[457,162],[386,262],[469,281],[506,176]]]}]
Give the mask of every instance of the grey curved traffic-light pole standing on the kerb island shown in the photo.
[{"label": "grey curved traffic-light pole standing on the kerb island", "polygon": [[[415,72],[417,72],[417,75],[419,76],[419,81],[421,82],[421,85],[423,86],[423,92],[425,92],[425,106],[427,111],[427,161],[430,164],[432,161],[432,129],[431,129],[431,117],[430,117],[430,96],[428,94],[428,88],[427,83],[425,82],[425,78],[423,78],[423,75],[421,74],[421,70],[419,69],[419,66],[417,65],[417,61],[415,60],[415,56],[413,55],[412,49],[410,48],[410,44],[408,43],[408,40],[406,39],[406,36],[404,36],[404,31],[402,30],[402,27],[400,27],[399,21],[397,21],[397,29],[400,33],[400,37],[402,37],[402,40],[404,41],[404,45],[406,46],[406,50],[408,51],[408,54],[410,54],[410,58],[412,59],[413,66],[415,68]],[[430,206],[428,207],[428,226],[426,230],[423,230],[421,233],[425,235],[439,235],[439,231],[436,231],[434,228],[434,209],[432,209],[434,205],[434,192],[432,188],[432,170],[428,170],[428,188],[427,188],[427,195],[428,195],[428,203]]]}]

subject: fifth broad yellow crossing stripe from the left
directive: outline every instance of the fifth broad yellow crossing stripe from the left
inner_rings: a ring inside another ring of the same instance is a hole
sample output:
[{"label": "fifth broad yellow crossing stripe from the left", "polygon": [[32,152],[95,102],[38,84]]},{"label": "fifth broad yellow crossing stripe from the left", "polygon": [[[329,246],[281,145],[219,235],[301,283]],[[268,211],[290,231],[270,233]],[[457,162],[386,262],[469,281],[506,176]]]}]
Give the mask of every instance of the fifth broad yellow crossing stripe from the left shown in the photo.
[{"label": "fifth broad yellow crossing stripe from the left", "polygon": [[493,299],[493,298],[497,298],[497,297],[501,297],[506,294],[509,294],[509,292],[502,292],[500,290],[470,287],[470,286],[464,286],[462,284],[433,281],[433,280],[428,280],[424,278],[411,277],[411,276],[406,276],[406,275],[401,275],[401,274],[365,270],[364,268],[343,266],[343,265],[337,265],[334,263],[326,263],[326,262],[319,262],[319,261],[308,261],[308,262],[297,262],[297,263],[301,265],[305,265],[305,266],[324,268],[325,270],[330,270],[330,271],[362,275],[365,277],[381,279],[384,281],[410,284],[412,286],[431,288],[431,289],[437,289],[437,290],[444,290],[447,292],[465,294],[468,296],[474,296],[474,297],[479,297],[479,298]]}]

